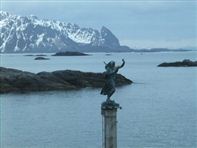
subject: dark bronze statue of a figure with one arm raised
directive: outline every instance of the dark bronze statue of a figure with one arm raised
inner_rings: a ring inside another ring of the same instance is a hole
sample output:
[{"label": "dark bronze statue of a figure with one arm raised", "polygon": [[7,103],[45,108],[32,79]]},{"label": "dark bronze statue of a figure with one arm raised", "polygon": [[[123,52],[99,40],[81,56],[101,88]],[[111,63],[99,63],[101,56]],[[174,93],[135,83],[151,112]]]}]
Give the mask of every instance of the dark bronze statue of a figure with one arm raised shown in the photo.
[{"label": "dark bronze statue of a figure with one arm raised", "polygon": [[104,72],[105,75],[105,85],[101,90],[102,95],[107,95],[107,100],[110,101],[110,97],[114,94],[116,91],[115,89],[115,76],[120,68],[122,68],[125,65],[124,59],[122,59],[122,64],[120,66],[115,66],[114,61],[110,61],[109,63],[105,63],[105,69]]}]

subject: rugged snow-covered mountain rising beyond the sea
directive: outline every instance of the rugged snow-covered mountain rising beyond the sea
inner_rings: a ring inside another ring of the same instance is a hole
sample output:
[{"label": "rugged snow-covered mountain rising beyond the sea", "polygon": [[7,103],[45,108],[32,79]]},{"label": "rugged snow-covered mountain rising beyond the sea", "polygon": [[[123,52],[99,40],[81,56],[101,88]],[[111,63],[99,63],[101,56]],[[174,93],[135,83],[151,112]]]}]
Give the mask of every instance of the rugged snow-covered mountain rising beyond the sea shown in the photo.
[{"label": "rugged snow-covered mountain rising beyond the sea", "polygon": [[76,24],[17,16],[0,11],[0,52],[128,51],[106,27],[101,31]]}]

